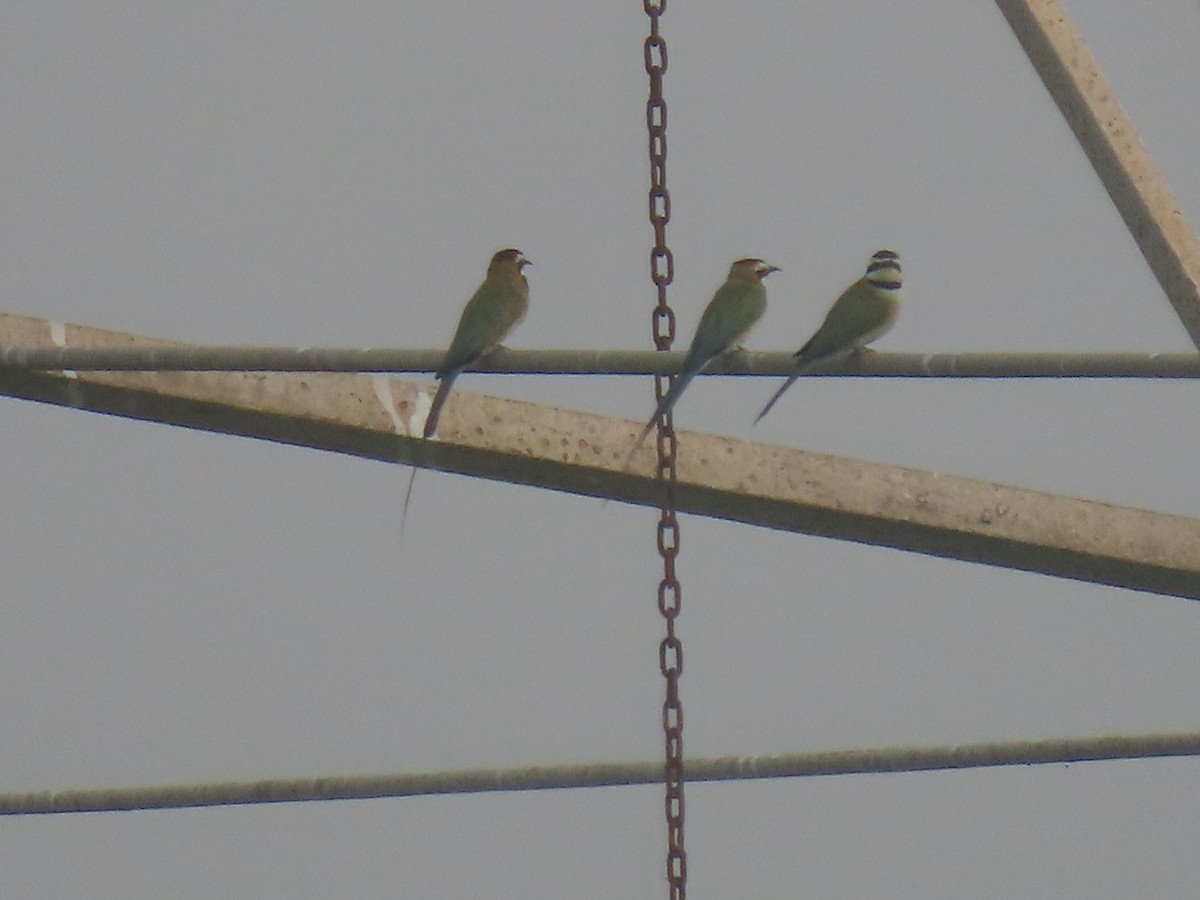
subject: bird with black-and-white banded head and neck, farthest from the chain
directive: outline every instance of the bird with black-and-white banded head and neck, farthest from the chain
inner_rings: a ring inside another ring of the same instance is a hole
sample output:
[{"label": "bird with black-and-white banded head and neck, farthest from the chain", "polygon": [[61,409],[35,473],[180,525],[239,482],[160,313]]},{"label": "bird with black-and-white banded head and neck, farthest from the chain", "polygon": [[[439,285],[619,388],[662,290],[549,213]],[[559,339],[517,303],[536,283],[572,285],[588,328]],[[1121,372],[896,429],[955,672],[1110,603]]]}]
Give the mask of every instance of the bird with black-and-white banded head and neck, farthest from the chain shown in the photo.
[{"label": "bird with black-and-white banded head and neck, farthest from the chain", "polygon": [[895,324],[904,298],[900,256],[877,250],[866,264],[866,274],[834,300],[816,334],[796,352],[797,368],[754,420],[757,425],[797,378],[818,362],[844,360],[863,350]]}]

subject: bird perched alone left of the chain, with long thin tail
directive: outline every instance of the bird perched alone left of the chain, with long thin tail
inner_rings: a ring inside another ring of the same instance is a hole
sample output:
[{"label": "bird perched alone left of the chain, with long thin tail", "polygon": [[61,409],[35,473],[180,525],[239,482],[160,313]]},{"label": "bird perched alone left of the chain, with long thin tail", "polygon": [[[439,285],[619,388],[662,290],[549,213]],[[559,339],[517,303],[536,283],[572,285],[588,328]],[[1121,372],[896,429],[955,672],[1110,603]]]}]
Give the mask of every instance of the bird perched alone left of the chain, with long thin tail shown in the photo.
[{"label": "bird perched alone left of the chain, with long thin tail", "polygon": [[[474,293],[458,318],[450,349],[442,359],[433,377],[442,382],[430,414],[425,416],[421,430],[422,439],[437,433],[442,407],[450,396],[455,378],[462,374],[467,366],[479,361],[494,350],[514,328],[524,318],[529,308],[529,282],[524,269],[533,265],[526,256],[514,247],[498,251],[487,264],[487,276]],[[413,481],[416,480],[416,468],[408,479],[408,491],[404,493],[404,508],[401,512],[400,534],[403,539],[404,522],[408,520],[408,503],[413,498]]]}]

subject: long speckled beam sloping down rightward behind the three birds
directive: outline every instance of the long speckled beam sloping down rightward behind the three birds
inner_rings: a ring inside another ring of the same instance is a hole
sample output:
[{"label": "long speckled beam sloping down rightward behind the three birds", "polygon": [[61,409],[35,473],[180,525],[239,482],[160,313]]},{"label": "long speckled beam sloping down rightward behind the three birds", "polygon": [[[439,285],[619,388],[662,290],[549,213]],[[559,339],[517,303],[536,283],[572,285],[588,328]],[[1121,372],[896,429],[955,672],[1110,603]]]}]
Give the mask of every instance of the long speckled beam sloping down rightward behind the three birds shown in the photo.
[{"label": "long speckled beam sloping down rightward behind the three birds", "polygon": [[[154,346],[0,314],[0,344]],[[658,506],[641,422],[383,376],[0,371],[0,394]],[[682,512],[1200,599],[1200,520],[731,438],[680,433]]]}]

